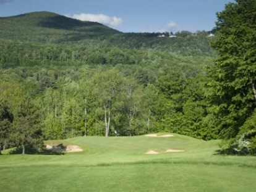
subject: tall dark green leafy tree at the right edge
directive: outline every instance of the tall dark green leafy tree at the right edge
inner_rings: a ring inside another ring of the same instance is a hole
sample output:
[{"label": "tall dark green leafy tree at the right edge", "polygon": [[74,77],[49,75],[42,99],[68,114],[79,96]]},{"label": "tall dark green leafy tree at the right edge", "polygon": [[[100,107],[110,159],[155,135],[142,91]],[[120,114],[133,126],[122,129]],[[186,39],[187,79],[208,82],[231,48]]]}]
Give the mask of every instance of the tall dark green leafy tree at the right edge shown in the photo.
[{"label": "tall dark green leafy tree at the right edge", "polygon": [[220,135],[236,153],[255,154],[256,1],[237,0],[217,14],[209,100]]}]

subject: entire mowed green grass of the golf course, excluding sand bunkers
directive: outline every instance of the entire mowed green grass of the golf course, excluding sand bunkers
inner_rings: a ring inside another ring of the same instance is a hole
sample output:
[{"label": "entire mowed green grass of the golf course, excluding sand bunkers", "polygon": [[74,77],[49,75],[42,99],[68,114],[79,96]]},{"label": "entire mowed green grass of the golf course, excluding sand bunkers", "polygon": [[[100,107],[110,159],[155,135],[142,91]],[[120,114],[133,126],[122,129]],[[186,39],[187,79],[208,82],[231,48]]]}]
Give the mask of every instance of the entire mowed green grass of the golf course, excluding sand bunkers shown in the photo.
[{"label": "entire mowed green grass of the golf course, excluding sand bunkers", "polygon": [[[77,137],[64,155],[0,156],[0,191],[255,191],[256,158],[221,156],[218,141]],[[163,153],[168,149],[184,150]],[[145,154],[147,151],[160,154]],[[7,151],[4,151],[7,153]]]}]

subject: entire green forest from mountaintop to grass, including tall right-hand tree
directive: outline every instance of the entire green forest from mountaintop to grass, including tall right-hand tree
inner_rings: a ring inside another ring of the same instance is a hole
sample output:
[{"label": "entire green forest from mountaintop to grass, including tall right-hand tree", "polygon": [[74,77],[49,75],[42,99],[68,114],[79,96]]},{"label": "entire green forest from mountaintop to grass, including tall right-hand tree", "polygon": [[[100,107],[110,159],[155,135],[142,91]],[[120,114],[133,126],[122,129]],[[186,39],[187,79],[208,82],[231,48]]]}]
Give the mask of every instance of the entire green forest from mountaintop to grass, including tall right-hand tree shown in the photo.
[{"label": "entire green forest from mountaintop to grass, including tall right-hand tree", "polygon": [[0,18],[0,154],[156,132],[256,154],[255,5],[230,3],[214,31],[196,33],[121,33],[49,12]]}]

